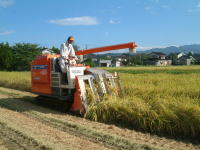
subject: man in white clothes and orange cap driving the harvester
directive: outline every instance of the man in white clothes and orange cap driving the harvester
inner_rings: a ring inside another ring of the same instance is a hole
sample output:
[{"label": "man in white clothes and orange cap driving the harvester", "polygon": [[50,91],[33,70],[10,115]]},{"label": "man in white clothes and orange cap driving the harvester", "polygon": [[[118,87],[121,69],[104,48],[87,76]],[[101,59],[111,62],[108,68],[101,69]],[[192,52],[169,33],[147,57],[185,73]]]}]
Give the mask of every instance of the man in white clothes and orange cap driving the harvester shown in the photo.
[{"label": "man in white clothes and orange cap driving the harvester", "polygon": [[69,65],[75,65],[76,60],[78,60],[72,43],[74,42],[74,37],[69,36],[66,43],[60,46],[60,58],[59,65],[62,73],[66,73]]}]

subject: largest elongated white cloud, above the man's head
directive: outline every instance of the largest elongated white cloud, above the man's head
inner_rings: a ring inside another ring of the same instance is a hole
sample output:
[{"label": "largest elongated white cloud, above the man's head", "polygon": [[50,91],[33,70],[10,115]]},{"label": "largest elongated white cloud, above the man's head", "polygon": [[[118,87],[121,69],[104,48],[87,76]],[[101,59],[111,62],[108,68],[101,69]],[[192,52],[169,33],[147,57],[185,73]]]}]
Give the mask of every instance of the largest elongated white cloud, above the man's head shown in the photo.
[{"label": "largest elongated white cloud, above the man's head", "polygon": [[57,24],[61,26],[80,26],[80,25],[97,25],[99,24],[97,18],[83,16],[83,17],[74,17],[74,18],[64,18],[64,19],[52,19],[49,20],[52,24]]}]

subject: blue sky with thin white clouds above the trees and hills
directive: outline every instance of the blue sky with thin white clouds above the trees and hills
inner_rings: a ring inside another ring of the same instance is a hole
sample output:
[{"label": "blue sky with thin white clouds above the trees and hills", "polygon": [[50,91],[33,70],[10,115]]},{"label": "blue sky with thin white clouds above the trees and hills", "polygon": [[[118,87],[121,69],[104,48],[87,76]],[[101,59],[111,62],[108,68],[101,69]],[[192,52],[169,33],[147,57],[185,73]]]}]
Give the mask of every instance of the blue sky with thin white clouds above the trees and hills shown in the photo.
[{"label": "blue sky with thin white clouds above the trees and hills", "polygon": [[200,0],[0,0],[0,42],[84,49],[200,44]]}]

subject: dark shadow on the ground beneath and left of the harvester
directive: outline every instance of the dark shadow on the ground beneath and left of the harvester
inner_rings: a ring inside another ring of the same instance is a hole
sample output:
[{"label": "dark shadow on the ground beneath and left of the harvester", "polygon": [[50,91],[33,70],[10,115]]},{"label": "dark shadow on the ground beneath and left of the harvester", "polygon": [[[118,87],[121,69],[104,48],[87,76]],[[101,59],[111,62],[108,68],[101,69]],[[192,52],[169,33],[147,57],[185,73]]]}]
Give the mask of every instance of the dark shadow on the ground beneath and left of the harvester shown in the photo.
[{"label": "dark shadow on the ground beneath and left of the harvester", "polygon": [[31,96],[21,98],[1,98],[0,107],[7,108],[18,112],[38,111],[41,113],[52,113],[59,115],[75,115],[80,116],[77,112],[69,112],[71,104],[61,102],[55,99],[42,99]]}]

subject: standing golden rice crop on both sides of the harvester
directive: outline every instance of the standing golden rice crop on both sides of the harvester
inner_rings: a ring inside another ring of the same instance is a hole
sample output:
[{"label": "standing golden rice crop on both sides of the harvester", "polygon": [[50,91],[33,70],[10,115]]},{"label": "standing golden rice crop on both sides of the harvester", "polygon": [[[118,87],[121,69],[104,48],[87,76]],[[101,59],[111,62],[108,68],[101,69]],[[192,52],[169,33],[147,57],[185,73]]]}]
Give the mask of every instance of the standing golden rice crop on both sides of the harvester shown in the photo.
[{"label": "standing golden rice crop on both sides of the harvester", "polygon": [[[200,66],[104,68],[118,71],[125,98],[106,96],[85,117],[159,135],[200,139]],[[30,90],[29,72],[0,72],[0,86]]]}]

